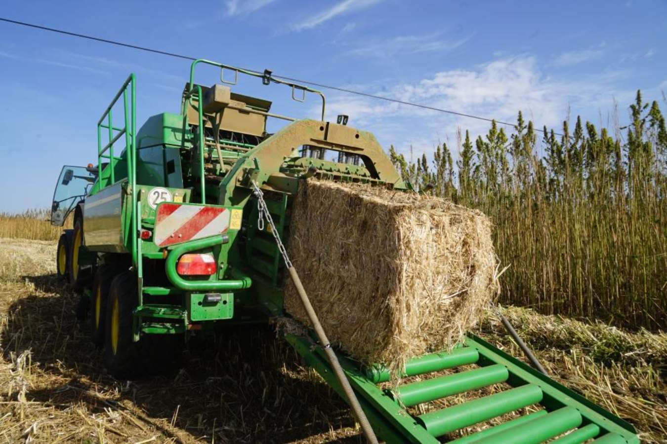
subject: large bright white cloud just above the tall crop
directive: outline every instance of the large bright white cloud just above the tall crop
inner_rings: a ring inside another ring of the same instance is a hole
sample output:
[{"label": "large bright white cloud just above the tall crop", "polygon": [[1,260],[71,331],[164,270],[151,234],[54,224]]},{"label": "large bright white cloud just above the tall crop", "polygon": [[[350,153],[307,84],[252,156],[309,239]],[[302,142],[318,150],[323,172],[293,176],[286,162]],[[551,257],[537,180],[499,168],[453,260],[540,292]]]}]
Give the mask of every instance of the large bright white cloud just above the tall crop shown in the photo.
[{"label": "large bright white cloud just above the tall crop", "polygon": [[[521,110],[524,118],[532,120],[536,128],[546,125],[559,132],[568,117],[568,107],[572,107],[573,117],[582,114],[584,120],[597,120],[598,110],[611,109],[612,94],[621,103],[632,99],[626,97],[624,91],[614,89],[616,81],[624,75],[606,73],[561,81],[544,75],[536,59],[524,55],[495,59],[474,69],[440,71],[377,94],[510,123],[516,121]],[[352,95],[329,97],[327,120],[335,119],[336,114],[350,115],[350,126],[374,132],[385,148],[394,144],[398,150],[409,154],[412,144],[414,156],[422,152],[430,155],[442,140],[456,152],[458,126],[463,128],[464,134],[469,129],[473,139],[486,134],[490,127],[490,122],[484,120]],[[506,127],[506,131],[511,130]]]}]

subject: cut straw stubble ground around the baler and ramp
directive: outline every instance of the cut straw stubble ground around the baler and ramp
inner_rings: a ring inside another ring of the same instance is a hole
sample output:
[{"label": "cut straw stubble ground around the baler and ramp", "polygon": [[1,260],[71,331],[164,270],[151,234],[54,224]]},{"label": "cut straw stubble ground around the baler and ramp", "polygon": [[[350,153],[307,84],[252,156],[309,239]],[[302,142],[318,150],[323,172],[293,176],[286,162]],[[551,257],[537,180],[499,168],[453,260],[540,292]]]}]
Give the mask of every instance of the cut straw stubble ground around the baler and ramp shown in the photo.
[{"label": "cut straw stubble ground around the baler and ramp", "polygon": [[[344,402],[271,328],[195,342],[179,371],[113,379],[53,256],[55,242],[0,239],[0,442],[363,442]],[[503,310],[558,381],[664,442],[664,334]],[[493,318],[478,332],[521,355]]]}]

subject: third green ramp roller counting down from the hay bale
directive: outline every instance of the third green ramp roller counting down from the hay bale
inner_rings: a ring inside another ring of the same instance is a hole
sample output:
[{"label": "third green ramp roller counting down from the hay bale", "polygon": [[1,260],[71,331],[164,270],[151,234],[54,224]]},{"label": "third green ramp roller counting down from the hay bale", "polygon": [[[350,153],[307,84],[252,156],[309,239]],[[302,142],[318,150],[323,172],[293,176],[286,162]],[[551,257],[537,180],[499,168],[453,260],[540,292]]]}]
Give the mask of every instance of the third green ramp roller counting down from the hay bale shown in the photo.
[{"label": "third green ramp roller counting down from the hay bale", "polygon": [[542,389],[528,384],[420,415],[417,421],[433,436],[468,427],[542,401]]}]

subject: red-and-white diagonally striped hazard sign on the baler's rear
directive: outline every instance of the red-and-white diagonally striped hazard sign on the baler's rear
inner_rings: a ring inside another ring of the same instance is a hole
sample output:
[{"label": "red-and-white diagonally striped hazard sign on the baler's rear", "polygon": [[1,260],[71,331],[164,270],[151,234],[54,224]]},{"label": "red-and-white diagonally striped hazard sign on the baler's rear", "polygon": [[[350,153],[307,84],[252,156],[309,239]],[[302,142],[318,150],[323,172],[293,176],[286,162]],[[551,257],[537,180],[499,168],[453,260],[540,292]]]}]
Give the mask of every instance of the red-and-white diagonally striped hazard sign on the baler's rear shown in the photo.
[{"label": "red-and-white diagonally striped hazard sign on the baler's rear", "polygon": [[229,210],[216,206],[159,204],[153,242],[163,247],[222,234],[229,228]]}]

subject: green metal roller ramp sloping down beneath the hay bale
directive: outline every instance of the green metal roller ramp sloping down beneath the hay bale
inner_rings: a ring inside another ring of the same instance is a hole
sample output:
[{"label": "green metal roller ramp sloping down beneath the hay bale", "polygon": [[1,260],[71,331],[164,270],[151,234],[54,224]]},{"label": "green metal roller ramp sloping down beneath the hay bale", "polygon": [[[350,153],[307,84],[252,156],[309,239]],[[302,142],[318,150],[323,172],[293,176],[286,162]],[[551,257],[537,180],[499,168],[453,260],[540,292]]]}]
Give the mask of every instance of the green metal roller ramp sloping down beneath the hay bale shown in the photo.
[{"label": "green metal roller ramp sloping down beneath the hay bale", "polygon": [[[319,345],[305,336],[286,335],[285,339],[342,394]],[[404,376],[423,375],[424,379],[405,383],[394,390],[378,386],[390,379],[382,365],[360,368],[356,361],[338,354],[376,434],[388,443],[438,443],[438,438],[448,433],[506,413],[524,411],[522,409],[529,406],[538,410],[452,442],[529,444],[558,437],[552,442],[574,444],[594,439],[594,443],[603,444],[639,443],[636,430],[626,421],[474,335],[469,335],[450,353],[430,353],[408,361]],[[466,367],[456,373],[426,379],[437,371],[462,365],[476,365],[476,368]],[[418,416],[406,410],[406,407],[496,384],[502,384],[502,391],[444,409]]]}]

